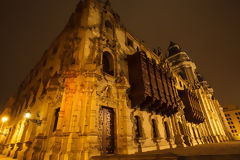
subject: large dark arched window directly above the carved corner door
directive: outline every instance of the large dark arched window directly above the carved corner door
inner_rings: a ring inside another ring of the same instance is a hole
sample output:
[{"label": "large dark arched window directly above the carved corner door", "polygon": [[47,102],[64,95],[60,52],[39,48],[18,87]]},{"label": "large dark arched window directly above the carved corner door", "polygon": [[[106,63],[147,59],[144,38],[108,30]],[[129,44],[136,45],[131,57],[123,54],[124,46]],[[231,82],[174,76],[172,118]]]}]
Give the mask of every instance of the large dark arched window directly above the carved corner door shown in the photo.
[{"label": "large dark arched window directly above the carved corner door", "polygon": [[103,72],[112,76],[114,75],[113,57],[109,52],[103,53],[102,65],[103,65]]}]

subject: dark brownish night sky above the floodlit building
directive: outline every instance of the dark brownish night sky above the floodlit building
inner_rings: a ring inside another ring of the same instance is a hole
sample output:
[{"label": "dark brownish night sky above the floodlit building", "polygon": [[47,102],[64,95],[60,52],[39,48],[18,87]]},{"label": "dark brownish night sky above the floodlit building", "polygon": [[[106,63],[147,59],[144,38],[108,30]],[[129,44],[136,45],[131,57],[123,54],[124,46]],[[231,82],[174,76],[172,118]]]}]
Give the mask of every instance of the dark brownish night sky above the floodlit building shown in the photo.
[{"label": "dark brownish night sky above the floodlit building", "polygon": [[[79,0],[3,0],[0,104],[64,28]],[[149,47],[179,43],[222,105],[240,106],[239,0],[112,0],[123,24]]]}]

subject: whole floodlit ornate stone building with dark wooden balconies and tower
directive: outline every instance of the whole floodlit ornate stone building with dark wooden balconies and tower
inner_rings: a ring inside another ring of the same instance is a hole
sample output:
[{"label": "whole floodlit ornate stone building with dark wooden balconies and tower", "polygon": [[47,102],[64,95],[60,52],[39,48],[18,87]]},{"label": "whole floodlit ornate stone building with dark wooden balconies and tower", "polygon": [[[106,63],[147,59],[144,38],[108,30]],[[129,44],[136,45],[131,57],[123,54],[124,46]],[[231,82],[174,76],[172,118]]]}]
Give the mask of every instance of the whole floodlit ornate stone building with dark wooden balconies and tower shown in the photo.
[{"label": "whole floodlit ornate stone building with dark wooden balconies and tower", "polygon": [[187,53],[174,42],[167,54],[148,48],[108,0],[79,2],[1,120],[0,152],[18,160],[90,160],[232,139]]}]

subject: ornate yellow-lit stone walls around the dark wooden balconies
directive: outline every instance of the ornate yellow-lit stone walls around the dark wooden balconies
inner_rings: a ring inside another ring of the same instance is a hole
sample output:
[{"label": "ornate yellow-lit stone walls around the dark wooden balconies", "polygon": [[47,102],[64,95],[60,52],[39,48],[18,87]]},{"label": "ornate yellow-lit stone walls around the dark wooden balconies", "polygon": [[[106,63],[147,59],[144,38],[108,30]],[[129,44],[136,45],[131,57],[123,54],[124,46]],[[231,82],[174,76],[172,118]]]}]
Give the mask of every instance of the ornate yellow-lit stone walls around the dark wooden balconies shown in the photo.
[{"label": "ornate yellow-lit stone walls around the dark wooden balconies", "polygon": [[[6,103],[1,116],[8,116],[9,120],[2,123],[2,153],[29,160],[88,160],[105,154],[99,140],[103,108],[113,111],[115,154],[229,139],[220,121],[220,106],[214,103],[204,85],[199,84],[200,88],[195,90],[205,116],[200,124],[186,120],[181,99],[177,100],[178,112],[170,116],[132,107],[126,58],[138,51],[145,52],[150,60],[168,70],[176,89],[195,85],[194,72],[187,76],[191,81],[183,79],[178,73],[183,68],[171,66],[169,59],[165,60],[128,33],[108,2],[80,2],[63,32]],[[110,74],[103,68],[105,52],[112,58]],[[187,65],[191,67],[194,63]],[[194,67],[186,73],[191,69]],[[25,117],[26,112],[31,112],[29,119]],[[136,136],[137,127],[139,136]]]}]

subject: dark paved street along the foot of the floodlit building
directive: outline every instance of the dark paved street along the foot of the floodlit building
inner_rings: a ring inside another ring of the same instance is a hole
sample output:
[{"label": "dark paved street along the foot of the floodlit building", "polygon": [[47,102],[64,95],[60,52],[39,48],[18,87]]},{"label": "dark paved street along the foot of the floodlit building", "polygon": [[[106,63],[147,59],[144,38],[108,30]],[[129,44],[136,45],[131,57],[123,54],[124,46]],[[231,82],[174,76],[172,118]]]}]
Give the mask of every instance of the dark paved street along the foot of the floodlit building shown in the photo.
[{"label": "dark paved street along the foot of the floodlit building", "polygon": [[[240,160],[240,141],[166,149],[136,155],[95,157],[94,160]],[[0,160],[13,160],[0,155]]]}]

